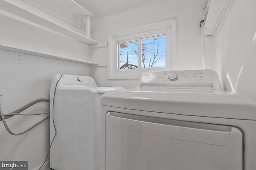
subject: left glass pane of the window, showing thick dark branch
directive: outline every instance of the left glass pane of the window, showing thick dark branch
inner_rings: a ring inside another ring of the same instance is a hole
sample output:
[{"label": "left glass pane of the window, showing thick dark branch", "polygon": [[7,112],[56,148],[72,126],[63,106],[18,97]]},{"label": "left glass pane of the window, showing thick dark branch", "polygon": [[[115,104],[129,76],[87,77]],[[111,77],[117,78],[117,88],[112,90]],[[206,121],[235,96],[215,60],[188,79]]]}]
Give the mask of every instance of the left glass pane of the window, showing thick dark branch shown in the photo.
[{"label": "left glass pane of the window, showing thick dark branch", "polygon": [[120,70],[138,68],[138,41],[118,44]]}]

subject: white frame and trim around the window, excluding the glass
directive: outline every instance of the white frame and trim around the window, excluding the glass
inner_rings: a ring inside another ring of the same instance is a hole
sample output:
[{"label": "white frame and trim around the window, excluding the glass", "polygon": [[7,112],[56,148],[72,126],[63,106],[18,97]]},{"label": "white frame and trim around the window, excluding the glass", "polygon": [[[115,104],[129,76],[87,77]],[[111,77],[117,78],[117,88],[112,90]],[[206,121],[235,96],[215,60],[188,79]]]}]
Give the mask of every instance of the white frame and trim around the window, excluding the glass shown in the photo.
[{"label": "white frame and trim around the window, excluding the glass", "polygon": [[[130,36],[144,36],[149,33],[170,33],[171,39],[166,39],[166,67],[155,68],[143,68],[143,69],[130,69],[130,70],[118,70],[118,59],[116,57],[117,47],[116,43],[119,39]],[[170,47],[170,48],[168,48]],[[170,50],[171,49],[171,50]],[[168,54],[170,53],[170,54]],[[128,29],[118,30],[108,33],[108,79],[138,79],[143,72],[147,71],[160,71],[160,70],[176,70],[177,68],[177,19],[164,20],[156,23],[150,23],[147,25],[141,25],[138,27],[132,27]]]}]

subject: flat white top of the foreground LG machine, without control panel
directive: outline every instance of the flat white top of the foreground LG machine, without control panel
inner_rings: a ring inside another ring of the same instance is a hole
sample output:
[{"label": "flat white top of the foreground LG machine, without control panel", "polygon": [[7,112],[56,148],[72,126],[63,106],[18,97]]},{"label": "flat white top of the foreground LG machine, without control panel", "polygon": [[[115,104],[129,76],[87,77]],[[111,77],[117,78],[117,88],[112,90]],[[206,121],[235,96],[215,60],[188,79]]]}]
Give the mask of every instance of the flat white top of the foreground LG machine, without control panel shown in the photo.
[{"label": "flat white top of the foreground LG machine, without control panel", "polygon": [[180,115],[256,120],[254,98],[222,90],[117,90],[104,94],[101,105]]}]

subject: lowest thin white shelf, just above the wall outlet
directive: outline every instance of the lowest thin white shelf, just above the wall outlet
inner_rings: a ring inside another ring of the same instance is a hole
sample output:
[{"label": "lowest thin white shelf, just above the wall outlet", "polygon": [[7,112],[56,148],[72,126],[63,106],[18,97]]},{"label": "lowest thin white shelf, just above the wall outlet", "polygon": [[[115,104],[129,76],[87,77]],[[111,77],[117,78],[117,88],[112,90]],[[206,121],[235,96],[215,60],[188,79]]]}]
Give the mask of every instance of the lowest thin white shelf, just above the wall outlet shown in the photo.
[{"label": "lowest thin white shelf, just above the wall outlet", "polygon": [[74,59],[74,58],[70,58],[70,57],[63,57],[63,56],[60,56],[60,55],[45,53],[45,52],[42,52],[42,51],[36,51],[36,50],[31,50],[31,49],[20,48],[20,47],[16,47],[16,46],[13,46],[13,45],[7,45],[7,44],[4,44],[4,43],[0,43],[0,49],[8,50],[8,51],[15,51],[15,52],[19,52],[19,53],[25,53],[25,54],[30,54],[30,55],[37,55],[37,56],[47,57],[47,58],[51,58],[51,59],[70,61],[70,62],[73,62],[73,63],[97,64],[97,63],[94,63],[94,62],[91,62],[91,61],[85,61],[85,60],[81,60],[81,59]]}]

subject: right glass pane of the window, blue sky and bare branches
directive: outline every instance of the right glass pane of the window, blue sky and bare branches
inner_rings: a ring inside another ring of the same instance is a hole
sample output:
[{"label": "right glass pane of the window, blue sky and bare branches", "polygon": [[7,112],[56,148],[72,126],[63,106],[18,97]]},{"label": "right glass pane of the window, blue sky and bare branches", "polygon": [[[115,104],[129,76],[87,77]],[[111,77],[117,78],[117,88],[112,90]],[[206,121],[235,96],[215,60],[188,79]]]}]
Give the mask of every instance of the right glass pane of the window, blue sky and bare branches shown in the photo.
[{"label": "right glass pane of the window, blue sky and bare branches", "polygon": [[166,36],[141,39],[141,68],[166,66]]}]

